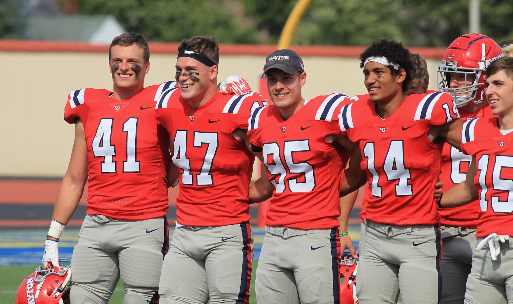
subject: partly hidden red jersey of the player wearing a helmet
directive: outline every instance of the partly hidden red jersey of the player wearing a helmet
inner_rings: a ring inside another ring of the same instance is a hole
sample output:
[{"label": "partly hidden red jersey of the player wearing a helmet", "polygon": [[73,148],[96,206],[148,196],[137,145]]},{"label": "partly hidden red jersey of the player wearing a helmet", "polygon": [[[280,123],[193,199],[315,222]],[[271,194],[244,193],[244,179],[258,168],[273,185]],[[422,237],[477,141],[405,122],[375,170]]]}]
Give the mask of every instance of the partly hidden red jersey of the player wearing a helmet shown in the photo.
[{"label": "partly hidden red jersey of the player wearing a helmet", "polygon": [[[463,121],[473,118],[490,118],[494,116],[491,114],[490,107],[488,106],[472,113],[462,111],[461,109],[459,112],[460,119]],[[471,160],[472,156],[464,154],[447,143],[444,144],[442,151],[442,173],[440,173],[440,179],[444,183],[444,191],[465,180]],[[457,208],[439,209],[438,212],[441,216],[440,224],[446,226],[476,228],[478,225],[478,211],[479,200]]]}]

